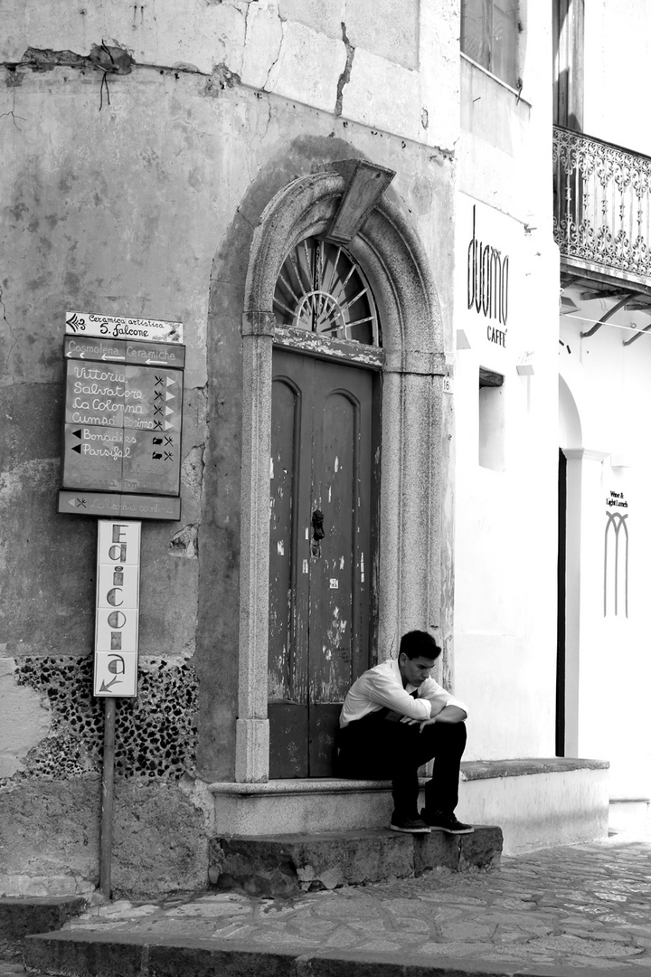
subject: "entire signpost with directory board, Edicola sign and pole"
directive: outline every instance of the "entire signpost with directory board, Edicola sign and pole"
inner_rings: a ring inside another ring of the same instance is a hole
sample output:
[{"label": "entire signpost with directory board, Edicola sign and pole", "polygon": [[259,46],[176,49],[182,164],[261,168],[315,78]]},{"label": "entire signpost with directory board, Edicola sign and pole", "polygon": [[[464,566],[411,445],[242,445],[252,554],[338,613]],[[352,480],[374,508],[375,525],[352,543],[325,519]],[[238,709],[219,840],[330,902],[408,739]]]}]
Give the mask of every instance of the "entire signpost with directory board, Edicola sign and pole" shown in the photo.
[{"label": "entire signpost with directory board, Edicola sign and pole", "polygon": [[143,519],[181,519],[181,322],[68,313],[59,512],[100,516],[93,694],[104,699],[100,890],[111,892],[115,700],[138,695]]}]

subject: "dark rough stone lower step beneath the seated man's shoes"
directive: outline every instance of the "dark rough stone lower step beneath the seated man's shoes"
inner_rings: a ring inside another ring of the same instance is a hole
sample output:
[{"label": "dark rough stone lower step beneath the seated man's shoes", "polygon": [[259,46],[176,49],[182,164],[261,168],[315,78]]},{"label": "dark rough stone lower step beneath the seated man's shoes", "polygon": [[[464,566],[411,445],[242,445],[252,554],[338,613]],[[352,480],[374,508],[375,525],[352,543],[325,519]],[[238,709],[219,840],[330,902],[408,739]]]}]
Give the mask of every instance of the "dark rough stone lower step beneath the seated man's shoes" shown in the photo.
[{"label": "dark rough stone lower step beneath the seated man's shoes", "polygon": [[402,834],[388,828],[322,833],[216,837],[209,877],[224,891],[264,898],[412,878],[433,869],[496,869],[502,829],[475,826],[472,834]]}]

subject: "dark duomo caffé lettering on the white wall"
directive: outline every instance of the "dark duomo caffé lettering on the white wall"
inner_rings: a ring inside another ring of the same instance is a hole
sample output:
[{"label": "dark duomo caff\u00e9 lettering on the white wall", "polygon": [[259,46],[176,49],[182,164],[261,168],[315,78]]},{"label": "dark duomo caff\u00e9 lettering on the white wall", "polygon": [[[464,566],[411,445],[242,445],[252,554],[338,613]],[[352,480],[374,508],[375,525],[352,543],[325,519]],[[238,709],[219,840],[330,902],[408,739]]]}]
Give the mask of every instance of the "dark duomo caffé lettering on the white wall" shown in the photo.
[{"label": "dark duomo caff\u00e9 lettering on the white wall", "polygon": [[509,319],[509,255],[480,240],[476,205],[472,206],[472,236],[468,244],[468,310],[492,319],[486,323],[486,338],[497,346],[507,346]]}]

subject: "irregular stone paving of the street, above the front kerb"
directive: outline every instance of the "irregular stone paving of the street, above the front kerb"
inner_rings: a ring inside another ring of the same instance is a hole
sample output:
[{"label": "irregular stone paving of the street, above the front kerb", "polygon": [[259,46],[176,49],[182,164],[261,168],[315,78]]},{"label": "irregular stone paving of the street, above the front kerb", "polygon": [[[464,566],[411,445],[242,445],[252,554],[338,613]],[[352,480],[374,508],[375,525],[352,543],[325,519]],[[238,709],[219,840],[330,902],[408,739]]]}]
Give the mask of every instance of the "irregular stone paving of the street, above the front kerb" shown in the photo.
[{"label": "irregular stone paving of the street, above the front kerb", "polygon": [[[651,975],[651,832],[641,833],[504,858],[500,871],[431,871],[290,901],[232,893],[121,901],[64,929]],[[0,969],[0,977],[15,974]]]}]

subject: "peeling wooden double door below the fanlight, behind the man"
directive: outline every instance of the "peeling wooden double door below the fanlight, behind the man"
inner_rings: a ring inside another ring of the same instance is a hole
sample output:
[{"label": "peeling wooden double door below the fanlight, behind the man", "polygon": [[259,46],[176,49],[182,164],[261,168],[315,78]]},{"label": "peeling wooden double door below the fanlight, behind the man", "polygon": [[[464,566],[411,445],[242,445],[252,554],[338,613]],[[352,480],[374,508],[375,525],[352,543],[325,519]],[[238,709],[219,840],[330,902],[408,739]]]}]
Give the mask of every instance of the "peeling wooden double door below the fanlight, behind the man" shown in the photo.
[{"label": "peeling wooden double door below the fanlight, behind the man", "polygon": [[342,701],[369,666],[379,379],[344,363],[273,354],[272,778],[332,774]]}]

